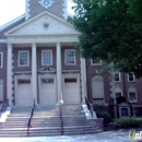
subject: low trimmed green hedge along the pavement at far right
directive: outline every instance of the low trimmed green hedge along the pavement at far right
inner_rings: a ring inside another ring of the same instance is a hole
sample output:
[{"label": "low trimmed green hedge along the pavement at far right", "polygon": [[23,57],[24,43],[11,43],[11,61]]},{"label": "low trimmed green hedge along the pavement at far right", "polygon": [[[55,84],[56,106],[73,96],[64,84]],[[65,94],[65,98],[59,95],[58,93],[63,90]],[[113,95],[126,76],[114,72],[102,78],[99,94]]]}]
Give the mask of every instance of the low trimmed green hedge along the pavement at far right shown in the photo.
[{"label": "low trimmed green hedge along the pavement at far right", "polygon": [[142,127],[142,117],[137,118],[119,118],[115,120],[115,127],[117,128],[137,128]]}]

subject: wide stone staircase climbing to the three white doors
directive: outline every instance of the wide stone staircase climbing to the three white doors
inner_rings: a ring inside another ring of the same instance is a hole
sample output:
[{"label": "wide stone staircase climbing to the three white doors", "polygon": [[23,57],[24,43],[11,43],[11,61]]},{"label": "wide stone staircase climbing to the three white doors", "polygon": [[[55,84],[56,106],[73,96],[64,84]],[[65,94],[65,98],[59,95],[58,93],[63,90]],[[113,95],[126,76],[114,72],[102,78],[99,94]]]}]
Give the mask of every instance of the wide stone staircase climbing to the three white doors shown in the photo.
[{"label": "wide stone staircase climbing to the three white doors", "polygon": [[0,129],[1,137],[48,137],[88,134],[102,131],[90,126],[81,105],[61,107],[35,107],[27,130],[31,107],[13,108],[4,126]]}]

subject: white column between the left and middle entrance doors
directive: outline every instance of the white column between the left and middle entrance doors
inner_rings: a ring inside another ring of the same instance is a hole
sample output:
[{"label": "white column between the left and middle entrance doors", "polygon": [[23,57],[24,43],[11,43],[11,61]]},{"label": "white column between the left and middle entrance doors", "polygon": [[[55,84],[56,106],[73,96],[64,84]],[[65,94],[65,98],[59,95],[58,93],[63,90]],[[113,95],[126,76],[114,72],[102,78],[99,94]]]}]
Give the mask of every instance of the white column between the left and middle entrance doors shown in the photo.
[{"label": "white column between the left and middle entrance doors", "polygon": [[36,44],[32,44],[32,95],[33,100],[37,104],[37,60],[36,60]]}]

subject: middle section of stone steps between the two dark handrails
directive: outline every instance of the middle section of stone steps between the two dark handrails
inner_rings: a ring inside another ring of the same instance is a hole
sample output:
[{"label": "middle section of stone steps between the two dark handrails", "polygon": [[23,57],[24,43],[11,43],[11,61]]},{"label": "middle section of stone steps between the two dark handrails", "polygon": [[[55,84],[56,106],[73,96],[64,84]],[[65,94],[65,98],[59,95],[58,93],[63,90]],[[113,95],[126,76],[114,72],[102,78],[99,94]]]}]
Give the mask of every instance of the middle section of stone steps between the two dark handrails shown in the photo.
[{"label": "middle section of stone steps between the two dark handrails", "polygon": [[60,123],[58,107],[35,107],[28,137],[60,135]]}]

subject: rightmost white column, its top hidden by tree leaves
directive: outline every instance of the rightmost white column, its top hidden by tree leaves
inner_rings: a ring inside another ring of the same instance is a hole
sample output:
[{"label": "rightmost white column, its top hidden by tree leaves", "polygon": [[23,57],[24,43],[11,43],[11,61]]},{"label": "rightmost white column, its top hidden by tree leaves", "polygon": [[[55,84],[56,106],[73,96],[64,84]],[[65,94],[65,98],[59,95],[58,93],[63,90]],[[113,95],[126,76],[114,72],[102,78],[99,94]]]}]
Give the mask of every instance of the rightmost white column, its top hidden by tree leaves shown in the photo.
[{"label": "rightmost white column, its top hidden by tree leaves", "polygon": [[86,63],[85,59],[81,58],[81,86],[82,86],[82,104],[85,104],[86,97]]}]

